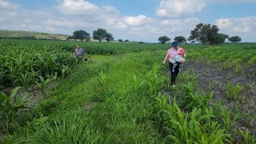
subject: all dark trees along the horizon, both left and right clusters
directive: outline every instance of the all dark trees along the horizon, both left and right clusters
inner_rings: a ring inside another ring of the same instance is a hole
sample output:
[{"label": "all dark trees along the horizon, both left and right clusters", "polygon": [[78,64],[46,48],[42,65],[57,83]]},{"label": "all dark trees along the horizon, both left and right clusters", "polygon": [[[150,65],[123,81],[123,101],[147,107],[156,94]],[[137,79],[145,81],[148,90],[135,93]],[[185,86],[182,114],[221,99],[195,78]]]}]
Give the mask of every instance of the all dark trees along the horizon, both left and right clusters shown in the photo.
[{"label": "all dark trees along the horizon, both left and right clusters", "polygon": [[[194,42],[201,42],[202,44],[221,44],[228,39],[230,42],[241,42],[242,38],[239,36],[230,37],[227,34],[220,34],[218,33],[219,29],[218,26],[211,26],[210,24],[202,24],[199,23],[197,26],[194,27],[194,30],[190,31],[190,37],[184,38],[183,36],[177,36],[174,38],[174,41],[179,43],[184,43],[190,41],[191,43]],[[93,32],[93,38],[102,42],[102,40],[106,40],[106,42],[114,41],[113,34],[107,32],[104,29],[98,28]],[[67,40],[70,39],[80,39],[81,41],[90,40],[90,34],[87,33],[85,30],[76,30],[74,31],[72,36],[66,38]],[[167,36],[161,36],[158,38],[158,41],[162,44],[169,42],[170,38]],[[122,39],[118,39],[118,42],[129,42],[129,40],[122,41]]]}]

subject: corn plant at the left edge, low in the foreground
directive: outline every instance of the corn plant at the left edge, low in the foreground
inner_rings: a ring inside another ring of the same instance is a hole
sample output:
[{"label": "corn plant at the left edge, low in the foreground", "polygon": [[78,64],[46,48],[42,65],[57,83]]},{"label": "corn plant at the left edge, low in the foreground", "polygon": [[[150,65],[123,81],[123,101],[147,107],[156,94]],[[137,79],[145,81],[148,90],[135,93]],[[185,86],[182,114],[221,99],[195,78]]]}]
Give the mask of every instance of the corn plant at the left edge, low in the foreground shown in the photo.
[{"label": "corn plant at the left edge, low in the foreground", "polygon": [[18,90],[21,87],[15,87],[10,91],[10,95],[0,93],[0,122],[3,130],[9,134],[18,128],[18,110],[26,108],[26,93],[18,96]]}]

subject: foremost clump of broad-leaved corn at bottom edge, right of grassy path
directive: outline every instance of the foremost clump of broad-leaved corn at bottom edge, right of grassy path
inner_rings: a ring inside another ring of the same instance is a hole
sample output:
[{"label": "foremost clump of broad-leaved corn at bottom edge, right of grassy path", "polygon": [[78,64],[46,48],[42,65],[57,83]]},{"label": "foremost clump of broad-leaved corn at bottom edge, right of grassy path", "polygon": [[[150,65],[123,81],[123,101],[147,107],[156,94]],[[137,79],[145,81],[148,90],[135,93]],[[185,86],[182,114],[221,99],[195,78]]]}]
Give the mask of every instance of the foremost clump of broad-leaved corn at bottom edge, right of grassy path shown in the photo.
[{"label": "foremost clump of broad-leaved corn at bottom edge, right of grassy path", "polygon": [[183,113],[174,102],[175,111],[167,119],[167,138],[174,143],[224,143],[230,135],[214,122],[212,114],[203,114],[202,109],[194,108],[191,113]]}]

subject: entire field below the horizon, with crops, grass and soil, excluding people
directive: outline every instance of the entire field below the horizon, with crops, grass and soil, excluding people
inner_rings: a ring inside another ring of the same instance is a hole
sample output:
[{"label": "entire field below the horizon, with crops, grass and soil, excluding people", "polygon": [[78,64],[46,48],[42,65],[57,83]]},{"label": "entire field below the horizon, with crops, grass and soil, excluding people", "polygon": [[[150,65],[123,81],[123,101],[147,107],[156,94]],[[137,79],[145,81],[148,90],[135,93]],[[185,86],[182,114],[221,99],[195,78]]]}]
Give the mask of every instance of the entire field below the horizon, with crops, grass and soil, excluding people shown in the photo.
[{"label": "entire field below the horizon, with crops, grass and soil, excluding people", "polygon": [[181,46],[175,88],[170,44],[77,44],[0,39],[0,142],[256,142],[255,43]]}]

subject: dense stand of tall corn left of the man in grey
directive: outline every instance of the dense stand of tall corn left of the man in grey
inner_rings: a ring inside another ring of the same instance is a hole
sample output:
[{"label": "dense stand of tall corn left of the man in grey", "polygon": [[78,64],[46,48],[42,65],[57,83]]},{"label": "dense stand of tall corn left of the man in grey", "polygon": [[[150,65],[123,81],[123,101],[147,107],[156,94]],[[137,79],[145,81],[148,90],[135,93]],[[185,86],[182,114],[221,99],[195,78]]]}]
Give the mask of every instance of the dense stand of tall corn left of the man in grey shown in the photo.
[{"label": "dense stand of tall corn left of the man in grey", "polygon": [[62,49],[52,49],[43,42],[1,40],[0,85],[28,87],[37,84],[39,76],[64,77],[76,58]]}]

